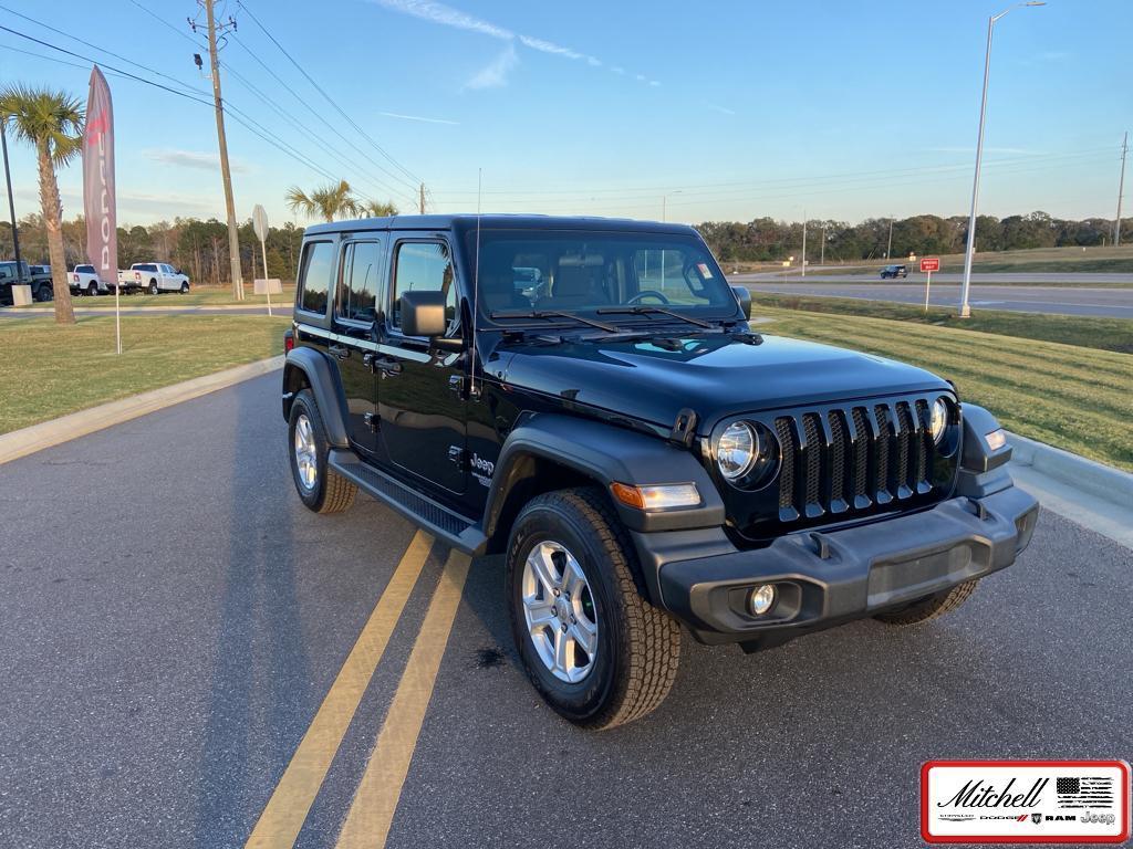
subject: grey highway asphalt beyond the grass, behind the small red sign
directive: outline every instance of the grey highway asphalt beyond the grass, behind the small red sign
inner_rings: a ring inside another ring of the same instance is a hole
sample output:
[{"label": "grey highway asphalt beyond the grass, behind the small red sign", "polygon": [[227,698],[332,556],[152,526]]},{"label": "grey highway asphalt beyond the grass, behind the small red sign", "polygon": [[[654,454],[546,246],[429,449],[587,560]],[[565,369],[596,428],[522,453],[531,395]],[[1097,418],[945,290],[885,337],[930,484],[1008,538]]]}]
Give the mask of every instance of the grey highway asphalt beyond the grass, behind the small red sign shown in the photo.
[{"label": "grey highway asphalt beyond the grass, behind the small red sign", "polygon": [[[948,274],[945,277],[960,275]],[[989,282],[993,277],[1012,277],[1015,275],[981,275],[979,281],[972,281],[969,291],[969,303],[973,309],[1002,309],[1020,312],[1047,312],[1063,316],[1104,316],[1108,318],[1133,318],[1133,286],[1098,288],[1087,285],[996,285]],[[1043,275],[1019,275],[1033,281]],[[1067,275],[1049,275],[1066,280]],[[1118,277],[1133,275],[1089,275]],[[729,280],[742,283],[753,292],[773,292],[778,294],[817,295],[823,298],[859,298],[870,301],[894,301],[897,303],[925,303],[925,278],[922,275],[910,275],[908,283],[881,282],[861,276],[821,275],[802,281],[791,277],[777,282],[769,275],[732,275]],[[913,282],[915,281],[915,282]],[[1096,281],[1104,282],[1104,281]],[[956,281],[938,281],[932,275],[929,288],[929,302],[938,307],[955,307],[960,303],[960,285]]]}]

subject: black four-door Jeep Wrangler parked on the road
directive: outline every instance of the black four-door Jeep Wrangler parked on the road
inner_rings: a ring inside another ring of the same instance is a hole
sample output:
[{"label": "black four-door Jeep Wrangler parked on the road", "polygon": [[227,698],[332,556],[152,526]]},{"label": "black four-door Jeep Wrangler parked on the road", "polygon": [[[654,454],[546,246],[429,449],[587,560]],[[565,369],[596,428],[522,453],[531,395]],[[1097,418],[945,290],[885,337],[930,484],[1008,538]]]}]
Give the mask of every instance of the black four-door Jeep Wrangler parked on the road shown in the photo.
[{"label": "black four-door Jeep Wrangler parked on the road", "polygon": [[1015,559],[1038,504],[986,410],[749,312],[688,226],[313,226],[283,372],[299,497],[332,513],[361,489],[504,554],[530,679],[591,728],[664,700],[682,625],[746,651],[910,625]]}]

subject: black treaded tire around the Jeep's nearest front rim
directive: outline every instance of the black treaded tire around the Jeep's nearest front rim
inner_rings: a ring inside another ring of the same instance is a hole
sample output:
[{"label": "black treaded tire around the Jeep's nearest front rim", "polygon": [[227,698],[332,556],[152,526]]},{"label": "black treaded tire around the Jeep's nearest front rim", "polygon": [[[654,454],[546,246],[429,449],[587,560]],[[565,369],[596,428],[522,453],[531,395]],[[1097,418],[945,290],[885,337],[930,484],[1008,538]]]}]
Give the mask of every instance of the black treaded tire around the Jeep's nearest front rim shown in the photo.
[{"label": "black treaded tire around the Jeep's nearest front rim", "polygon": [[[578,559],[598,614],[597,659],[577,684],[560,680],[546,668],[523,618],[523,565],[535,544],[547,540],[560,542]],[[538,496],[512,526],[504,586],[516,649],[539,695],[585,728],[614,728],[645,717],[665,700],[676,678],[680,626],[641,598],[631,572],[634,559],[633,547],[599,489]]]}]

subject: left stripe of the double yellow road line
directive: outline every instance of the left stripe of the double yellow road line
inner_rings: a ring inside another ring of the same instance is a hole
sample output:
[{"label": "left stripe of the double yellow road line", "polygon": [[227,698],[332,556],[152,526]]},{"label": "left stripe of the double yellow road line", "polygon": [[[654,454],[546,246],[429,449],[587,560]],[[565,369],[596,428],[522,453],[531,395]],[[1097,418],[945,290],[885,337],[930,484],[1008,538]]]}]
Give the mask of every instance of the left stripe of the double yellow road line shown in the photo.
[{"label": "left stripe of the double yellow road line", "polygon": [[414,534],[315,719],[291,756],[283,778],[259,815],[259,821],[248,838],[248,847],[295,844],[374,669],[385,652],[390,634],[417,583],[432,544],[433,539],[428,534],[421,531]]}]

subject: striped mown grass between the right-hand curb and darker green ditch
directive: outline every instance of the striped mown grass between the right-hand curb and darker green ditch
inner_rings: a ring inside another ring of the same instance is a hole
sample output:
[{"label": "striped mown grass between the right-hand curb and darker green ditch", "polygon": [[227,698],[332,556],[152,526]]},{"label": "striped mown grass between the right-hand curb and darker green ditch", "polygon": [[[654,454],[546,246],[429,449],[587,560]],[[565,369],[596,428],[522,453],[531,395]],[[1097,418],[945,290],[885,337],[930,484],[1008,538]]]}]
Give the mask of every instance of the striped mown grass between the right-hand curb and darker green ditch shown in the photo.
[{"label": "striped mown grass between the right-hand curb and darker green ditch", "polygon": [[1133,471],[1133,354],[955,327],[766,308],[756,329],[903,360],[1008,430]]}]

